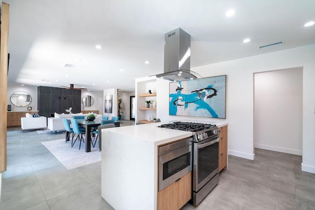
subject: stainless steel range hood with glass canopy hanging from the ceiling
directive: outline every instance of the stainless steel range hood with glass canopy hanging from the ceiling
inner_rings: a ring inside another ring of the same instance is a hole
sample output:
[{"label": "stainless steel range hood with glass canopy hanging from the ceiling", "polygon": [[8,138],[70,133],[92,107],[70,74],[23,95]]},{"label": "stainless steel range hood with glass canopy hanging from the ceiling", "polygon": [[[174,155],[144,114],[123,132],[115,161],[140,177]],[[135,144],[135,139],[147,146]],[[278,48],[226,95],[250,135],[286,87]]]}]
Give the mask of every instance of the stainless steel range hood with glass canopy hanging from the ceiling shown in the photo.
[{"label": "stainless steel range hood with glass canopy hanging from the ceiling", "polygon": [[197,78],[190,72],[190,35],[185,30],[165,33],[164,73],[156,76],[174,82]]}]

